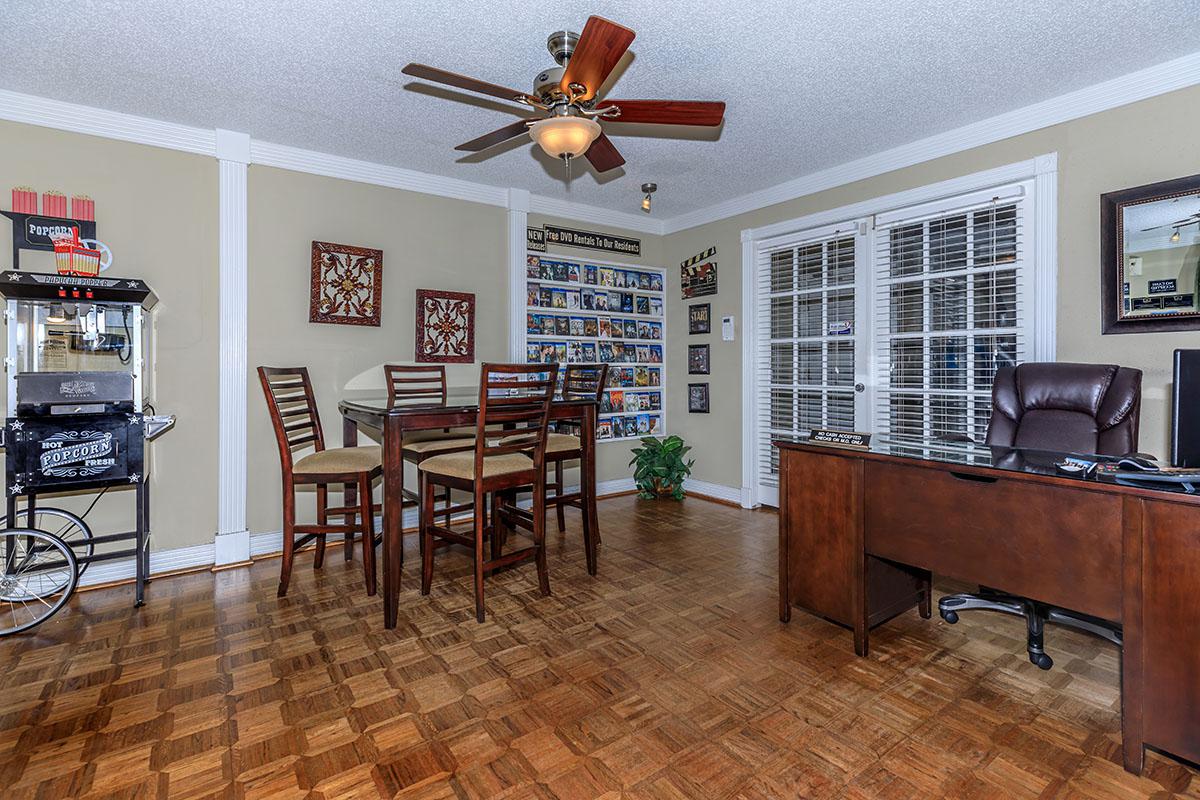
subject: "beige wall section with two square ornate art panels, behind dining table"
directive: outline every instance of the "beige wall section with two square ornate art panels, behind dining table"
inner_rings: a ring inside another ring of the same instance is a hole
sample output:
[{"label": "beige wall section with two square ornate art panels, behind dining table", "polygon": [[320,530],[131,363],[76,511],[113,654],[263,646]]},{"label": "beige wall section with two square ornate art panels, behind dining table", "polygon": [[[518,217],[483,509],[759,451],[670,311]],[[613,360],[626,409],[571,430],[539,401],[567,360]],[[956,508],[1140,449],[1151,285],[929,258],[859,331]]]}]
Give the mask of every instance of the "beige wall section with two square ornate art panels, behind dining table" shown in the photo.
[{"label": "beige wall section with two square ornate art panels, behind dining table", "polygon": [[[478,385],[479,362],[508,360],[508,233],[497,206],[269,167],[250,168],[248,196],[247,524],[258,534],[280,530],[282,518],[278,451],[254,368],[307,366],[325,441],[341,445],[342,391],[383,392],[383,363],[413,363],[415,293],[446,289],[476,296],[476,362],[451,365],[448,380]],[[313,240],[383,251],[379,327],[308,321]],[[298,510],[311,516],[311,500]]]}]

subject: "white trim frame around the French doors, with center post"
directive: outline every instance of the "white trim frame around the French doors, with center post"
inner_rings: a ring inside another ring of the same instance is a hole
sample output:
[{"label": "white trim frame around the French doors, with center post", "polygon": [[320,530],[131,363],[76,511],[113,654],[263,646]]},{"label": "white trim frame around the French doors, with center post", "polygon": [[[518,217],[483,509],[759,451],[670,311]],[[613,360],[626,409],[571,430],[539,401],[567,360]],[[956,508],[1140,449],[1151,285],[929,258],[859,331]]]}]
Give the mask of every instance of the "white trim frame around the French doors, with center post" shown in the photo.
[{"label": "white trim frame around the French doors, with center post", "polygon": [[[862,203],[820,211],[796,219],[788,219],[760,228],[742,230],[742,505],[755,507],[764,499],[758,497],[756,470],[757,443],[757,384],[755,354],[758,349],[757,331],[757,273],[758,253],[772,240],[785,236],[803,236],[823,227],[846,224],[850,221],[888,215],[892,211],[911,209],[912,206],[938,203],[972,192],[994,190],[1012,184],[1028,184],[1028,230],[1026,231],[1030,253],[1031,295],[1027,306],[1027,324],[1032,325],[1032,342],[1027,350],[1036,361],[1054,361],[1057,350],[1057,289],[1058,289],[1058,156],[1056,152],[1044,154],[1028,161],[1021,161],[995,169],[988,169],[971,175],[954,178],[947,181],[922,186],[904,192],[872,198]],[[866,234],[870,236],[871,234]],[[858,294],[859,308],[866,297],[875,296],[874,285],[874,246],[868,246],[868,264],[865,278]],[[875,386],[872,374],[876,351],[875,332],[870,327],[870,314],[862,313],[859,319],[865,323],[863,345],[869,348],[872,357],[868,359],[870,368],[864,374],[868,408],[875,407]]]}]

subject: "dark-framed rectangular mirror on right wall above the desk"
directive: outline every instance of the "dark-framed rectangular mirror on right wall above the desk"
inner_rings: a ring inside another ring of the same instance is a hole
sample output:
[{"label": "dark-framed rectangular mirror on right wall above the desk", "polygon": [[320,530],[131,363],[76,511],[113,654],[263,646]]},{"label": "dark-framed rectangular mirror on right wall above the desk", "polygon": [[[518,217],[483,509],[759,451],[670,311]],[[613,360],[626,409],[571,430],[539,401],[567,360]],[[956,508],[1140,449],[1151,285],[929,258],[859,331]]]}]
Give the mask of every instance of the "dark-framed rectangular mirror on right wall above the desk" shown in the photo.
[{"label": "dark-framed rectangular mirror on right wall above the desk", "polygon": [[1104,333],[1200,330],[1200,175],[1100,196]]}]

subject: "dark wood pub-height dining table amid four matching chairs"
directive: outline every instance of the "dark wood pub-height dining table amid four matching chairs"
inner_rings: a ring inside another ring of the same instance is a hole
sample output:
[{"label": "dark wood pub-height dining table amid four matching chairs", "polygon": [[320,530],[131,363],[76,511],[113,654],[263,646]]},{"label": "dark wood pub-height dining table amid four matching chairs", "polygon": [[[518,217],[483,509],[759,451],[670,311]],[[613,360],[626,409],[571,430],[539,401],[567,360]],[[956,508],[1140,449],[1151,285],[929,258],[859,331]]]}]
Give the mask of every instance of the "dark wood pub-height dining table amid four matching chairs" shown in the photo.
[{"label": "dark wood pub-height dining table amid four matching chairs", "polygon": [[[448,387],[444,402],[425,398],[389,397],[383,390],[346,390],[337,409],[342,415],[342,446],[355,447],[359,431],[367,428],[382,439],[383,455],[383,621],[396,627],[400,613],[400,576],[404,566],[404,434],[414,431],[474,427],[479,419],[479,387]],[[595,434],[598,403],[588,398],[556,397],[550,405],[552,422],[580,426],[583,457],[580,465],[580,493],[583,506],[583,549],[589,575],[596,573]],[[347,488],[349,495],[354,489]],[[412,500],[409,503],[413,503]],[[479,513],[475,510],[474,513]]]}]

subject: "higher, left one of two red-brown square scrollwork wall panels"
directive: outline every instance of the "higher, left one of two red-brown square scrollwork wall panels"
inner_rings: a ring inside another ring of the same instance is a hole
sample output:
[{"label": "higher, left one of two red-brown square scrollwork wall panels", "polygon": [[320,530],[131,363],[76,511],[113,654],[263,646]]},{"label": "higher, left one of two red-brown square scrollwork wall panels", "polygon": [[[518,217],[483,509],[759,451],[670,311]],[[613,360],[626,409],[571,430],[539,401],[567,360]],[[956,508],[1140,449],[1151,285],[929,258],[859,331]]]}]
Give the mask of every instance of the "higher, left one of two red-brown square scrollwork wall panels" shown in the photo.
[{"label": "higher, left one of two red-brown square scrollwork wall panels", "polygon": [[314,241],[311,279],[310,323],[379,327],[382,249]]}]

